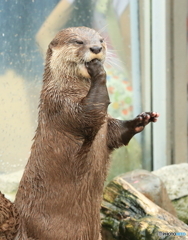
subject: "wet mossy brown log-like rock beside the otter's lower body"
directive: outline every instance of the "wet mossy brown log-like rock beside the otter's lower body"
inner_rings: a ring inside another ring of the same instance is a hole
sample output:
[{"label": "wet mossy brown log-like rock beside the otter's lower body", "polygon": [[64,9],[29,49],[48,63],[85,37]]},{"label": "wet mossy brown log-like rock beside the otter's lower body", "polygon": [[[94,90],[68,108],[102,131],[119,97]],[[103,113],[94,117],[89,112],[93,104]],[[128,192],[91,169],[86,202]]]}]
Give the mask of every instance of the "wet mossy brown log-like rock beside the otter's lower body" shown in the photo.
[{"label": "wet mossy brown log-like rock beside the otter's lower body", "polygon": [[188,239],[186,224],[150,201],[122,177],[115,178],[104,190],[101,221],[103,240],[158,240],[164,238],[165,233],[174,232],[183,232],[184,236],[171,235],[164,239]]}]

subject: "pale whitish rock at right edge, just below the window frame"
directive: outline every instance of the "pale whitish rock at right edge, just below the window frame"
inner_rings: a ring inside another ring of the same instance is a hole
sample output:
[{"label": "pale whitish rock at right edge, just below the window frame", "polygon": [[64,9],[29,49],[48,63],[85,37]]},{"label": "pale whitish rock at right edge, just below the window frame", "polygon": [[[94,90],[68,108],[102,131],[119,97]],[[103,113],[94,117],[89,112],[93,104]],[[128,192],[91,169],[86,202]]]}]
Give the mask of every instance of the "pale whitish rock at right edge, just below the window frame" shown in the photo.
[{"label": "pale whitish rock at right edge, just below the window frame", "polygon": [[161,178],[171,200],[188,195],[188,163],[165,166],[152,173]]}]

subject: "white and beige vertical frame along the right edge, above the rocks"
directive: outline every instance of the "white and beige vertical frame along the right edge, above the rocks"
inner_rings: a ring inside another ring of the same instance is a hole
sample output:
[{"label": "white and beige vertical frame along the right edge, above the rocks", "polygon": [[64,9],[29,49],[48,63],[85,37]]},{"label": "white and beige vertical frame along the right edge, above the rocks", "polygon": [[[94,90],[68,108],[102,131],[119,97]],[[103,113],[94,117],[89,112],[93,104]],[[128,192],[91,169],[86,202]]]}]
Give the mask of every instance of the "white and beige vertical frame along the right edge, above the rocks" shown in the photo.
[{"label": "white and beige vertical frame along the right edge, above the rocks", "polygon": [[[152,106],[154,170],[187,162],[187,1],[152,1]],[[180,107],[181,106],[181,107]]]}]

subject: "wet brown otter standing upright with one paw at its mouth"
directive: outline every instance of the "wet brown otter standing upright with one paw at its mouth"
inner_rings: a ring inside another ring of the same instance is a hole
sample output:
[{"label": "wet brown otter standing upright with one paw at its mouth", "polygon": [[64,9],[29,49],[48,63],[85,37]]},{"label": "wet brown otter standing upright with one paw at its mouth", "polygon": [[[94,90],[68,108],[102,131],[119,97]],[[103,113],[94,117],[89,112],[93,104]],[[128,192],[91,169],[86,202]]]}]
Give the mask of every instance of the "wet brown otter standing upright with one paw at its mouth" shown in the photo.
[{"label": "wet brown otter standing upright with one paw at its mouth", "polygon": [[15,199],[16,240],[99,240],[109,155],[156,122],[108,116],[106,43],[86,27],[67,28],[49,44],[38,127]]}]

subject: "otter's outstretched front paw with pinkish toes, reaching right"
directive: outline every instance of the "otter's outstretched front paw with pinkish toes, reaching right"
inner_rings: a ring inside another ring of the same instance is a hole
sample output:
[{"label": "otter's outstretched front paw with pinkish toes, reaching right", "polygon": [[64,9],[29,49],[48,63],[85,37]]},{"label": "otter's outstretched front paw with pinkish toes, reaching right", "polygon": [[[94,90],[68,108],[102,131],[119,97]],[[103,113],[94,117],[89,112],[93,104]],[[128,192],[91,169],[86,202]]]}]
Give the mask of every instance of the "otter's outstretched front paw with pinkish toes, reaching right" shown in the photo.
[{"label": "otter's outstretched front paw with pinkish toes, reaching right", "polygon": [[156,112],[143,112],[136,118],[127,122],[127,127],[134,134],[141,132],[144,127],[150,122],[157,122],[159,113]]}]

